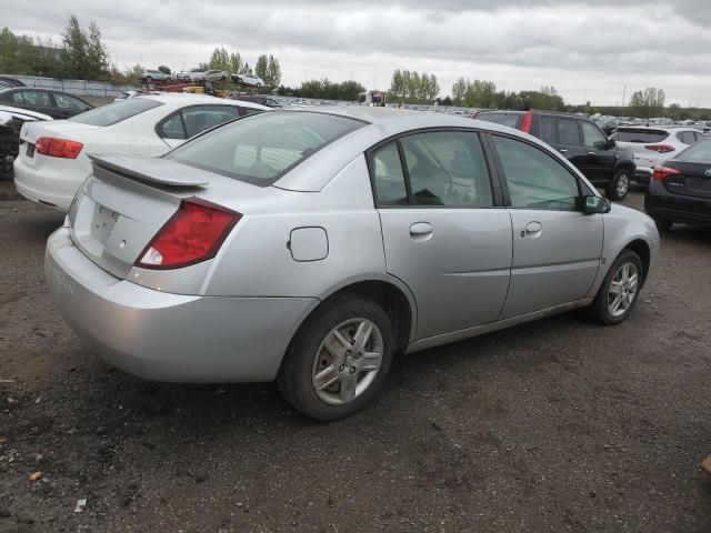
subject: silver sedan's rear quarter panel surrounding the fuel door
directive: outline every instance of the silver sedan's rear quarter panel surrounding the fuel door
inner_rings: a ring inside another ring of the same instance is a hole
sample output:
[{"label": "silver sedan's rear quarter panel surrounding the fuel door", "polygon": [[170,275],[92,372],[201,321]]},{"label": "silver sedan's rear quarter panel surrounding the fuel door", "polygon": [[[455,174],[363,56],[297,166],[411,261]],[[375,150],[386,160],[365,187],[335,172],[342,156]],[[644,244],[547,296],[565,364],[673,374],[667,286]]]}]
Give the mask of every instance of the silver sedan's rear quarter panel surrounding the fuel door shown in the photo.
[{"label": "silver sedan's rear quarter panel surrounding the fuel door", "polygon": [[[276,190],[262,205],[232,203],[244,217],[211,265],[206,295],[323,299],[351,282],[385,279],[380,219],[362,154],[320,192]],[[290,235],[298,228],[326,230],[324,259],[292,258]]]}]

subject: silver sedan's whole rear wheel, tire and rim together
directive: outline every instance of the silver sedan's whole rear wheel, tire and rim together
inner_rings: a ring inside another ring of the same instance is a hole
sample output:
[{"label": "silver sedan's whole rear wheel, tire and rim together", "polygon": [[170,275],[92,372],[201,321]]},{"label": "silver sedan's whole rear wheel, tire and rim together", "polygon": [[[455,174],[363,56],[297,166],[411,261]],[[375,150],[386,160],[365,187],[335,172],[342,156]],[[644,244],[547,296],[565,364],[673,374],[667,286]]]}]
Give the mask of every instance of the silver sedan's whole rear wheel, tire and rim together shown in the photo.
[{"label": "silver sedan's whole rear wheel, tire and rim together", "polygon": [[326,302],[299,329],[277,378],[279,390],[312,419],[363,409],[382,386],[394,350],[392,322],[369,298]]}]

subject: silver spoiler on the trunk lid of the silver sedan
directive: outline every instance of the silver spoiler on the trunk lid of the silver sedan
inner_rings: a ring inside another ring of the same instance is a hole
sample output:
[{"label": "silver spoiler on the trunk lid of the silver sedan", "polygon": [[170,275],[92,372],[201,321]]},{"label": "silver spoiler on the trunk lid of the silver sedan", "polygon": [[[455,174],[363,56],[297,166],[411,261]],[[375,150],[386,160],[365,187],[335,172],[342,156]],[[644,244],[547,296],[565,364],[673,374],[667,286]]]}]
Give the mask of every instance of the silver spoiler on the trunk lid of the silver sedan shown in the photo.
[{"label": "silver spoiler on the trunk lid of the silver sedan", "polygon": [[89,154],[92,164],[133,180],[171,187],[207,187],[204,172],[163,158],[134,158],[116,154]]}]

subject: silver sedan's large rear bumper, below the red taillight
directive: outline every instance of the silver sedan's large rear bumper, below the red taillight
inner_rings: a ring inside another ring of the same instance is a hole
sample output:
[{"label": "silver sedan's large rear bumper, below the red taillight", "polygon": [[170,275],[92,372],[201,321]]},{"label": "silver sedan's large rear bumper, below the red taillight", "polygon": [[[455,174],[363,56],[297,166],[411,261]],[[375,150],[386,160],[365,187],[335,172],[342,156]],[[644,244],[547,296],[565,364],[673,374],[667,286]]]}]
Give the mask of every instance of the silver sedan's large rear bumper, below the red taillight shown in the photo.
[{"label": "silver sedan's large rear bumper, below the red taillight", "polygon": [[67,228],[44,269],[62,316],[107,362],[140,378],[190,383],[271,381],[318,300],[168,294],[92,263]]}]

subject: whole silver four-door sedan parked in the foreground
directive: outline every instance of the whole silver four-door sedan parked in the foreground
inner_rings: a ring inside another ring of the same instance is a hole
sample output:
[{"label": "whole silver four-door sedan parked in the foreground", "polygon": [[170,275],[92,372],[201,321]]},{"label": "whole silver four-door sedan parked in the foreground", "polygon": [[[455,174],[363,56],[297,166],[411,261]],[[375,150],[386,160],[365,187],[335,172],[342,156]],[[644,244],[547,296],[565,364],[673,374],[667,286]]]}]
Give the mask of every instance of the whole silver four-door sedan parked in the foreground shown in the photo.
[{"label": "whole silver four-door sedan parked in the foreground", "polygon": [[548,145],[463,118],[282,110],[92,162],[47,248],[63,316],[129,373],[276,380],[319,420],[368,404],[397,353],[582,306],[623,321],[659,248]]}]

